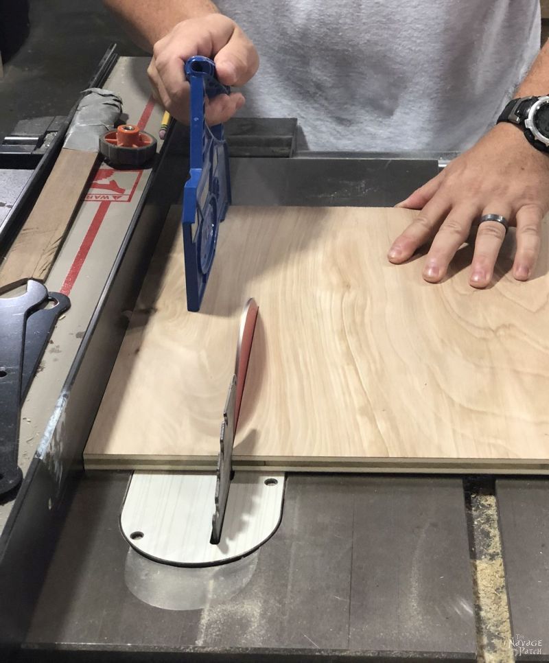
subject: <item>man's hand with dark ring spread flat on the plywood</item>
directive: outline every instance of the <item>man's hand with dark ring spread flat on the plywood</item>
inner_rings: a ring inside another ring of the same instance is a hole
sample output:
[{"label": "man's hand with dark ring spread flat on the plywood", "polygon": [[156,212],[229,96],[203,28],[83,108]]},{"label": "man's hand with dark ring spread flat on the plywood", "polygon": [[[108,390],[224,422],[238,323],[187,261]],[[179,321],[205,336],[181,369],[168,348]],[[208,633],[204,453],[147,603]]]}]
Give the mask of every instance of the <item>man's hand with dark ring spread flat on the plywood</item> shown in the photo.
[{"label": "man's hand with dark ring spread flat on the plywood", "polygon": [[[498,124],[397,207],[421,213],[393,242],[391,262],[408,260],[432,240],[423,278],[438,283],[474,221],[484,214],[500,214],[517,226],[513,276],[526,281],[539,255],[541,220],[549,210],[549,155],[530,146],[516,127]],[[471,286],[489,285],[504,237],[498,222],[478,226]]]}]

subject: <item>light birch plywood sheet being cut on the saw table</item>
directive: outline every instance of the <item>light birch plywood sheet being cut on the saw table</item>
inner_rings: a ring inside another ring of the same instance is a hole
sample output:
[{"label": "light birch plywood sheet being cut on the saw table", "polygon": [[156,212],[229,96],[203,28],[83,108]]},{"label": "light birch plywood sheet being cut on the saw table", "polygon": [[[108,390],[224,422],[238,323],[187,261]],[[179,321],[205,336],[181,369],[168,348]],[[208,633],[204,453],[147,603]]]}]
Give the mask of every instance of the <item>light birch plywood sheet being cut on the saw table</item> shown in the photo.
[{"label": "light birch plywood sheet being cut on the saw table", "polygon": [[[87,467],[214,467],[238,318],[259,304],[235,463],[279,469],[549,470],[547,239],[532,281],[438,286],[386,261],[401,209],[233,208],[205,301],[185,307],[177,218],[145,279]],[[546,235],[544,235],[546,237]]]}]

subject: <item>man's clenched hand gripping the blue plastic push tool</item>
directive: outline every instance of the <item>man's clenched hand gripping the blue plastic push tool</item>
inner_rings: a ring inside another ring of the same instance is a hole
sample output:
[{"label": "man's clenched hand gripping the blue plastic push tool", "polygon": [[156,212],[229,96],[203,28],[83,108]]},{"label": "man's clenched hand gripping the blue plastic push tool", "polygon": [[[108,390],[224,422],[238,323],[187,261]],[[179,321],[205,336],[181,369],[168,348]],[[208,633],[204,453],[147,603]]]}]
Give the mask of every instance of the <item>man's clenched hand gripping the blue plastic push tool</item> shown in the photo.
[{"label": "man's clenched hand gripping the blue plastic push tool", "polygon": [[[240,86],[259,67],[253,43],[240,27],[222,14],[209,14],[178,23],[154,44],[147,73],[153,94],[170,114],[189,124],[189,84],[183,65],[191,56],[201,55],[215,62],[220,82]],[[218,95],[206,102],[206,121],[219,124],[244,105],[244,95]]]}]

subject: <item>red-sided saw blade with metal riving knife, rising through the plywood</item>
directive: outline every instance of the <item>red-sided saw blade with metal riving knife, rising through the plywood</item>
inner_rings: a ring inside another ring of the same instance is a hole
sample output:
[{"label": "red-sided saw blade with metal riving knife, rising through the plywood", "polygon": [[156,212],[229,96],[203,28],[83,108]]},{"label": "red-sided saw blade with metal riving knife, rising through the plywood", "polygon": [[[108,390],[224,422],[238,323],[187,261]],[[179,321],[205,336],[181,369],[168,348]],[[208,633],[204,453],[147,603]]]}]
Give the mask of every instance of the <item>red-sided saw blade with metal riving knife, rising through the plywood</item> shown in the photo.
[{"label": "red-sided saw blade with metal riving knife, rising through the plywood", "polygon": [[221,530],[233,474],[233,443],[240,415],[240,405],[242,404],[242,394],[244,393],[244,383],[248,372],[248,362],[250,361],[258,312],[259,306],[255,303],[255,299],[248,299],[242,311],[242,316],[240,316],[235,373],[231,377],[221,424],[221,448],[218,456],[218,476],[215,485],[215,512],[211,523],[211,544],[218,544],[221,539]]}]

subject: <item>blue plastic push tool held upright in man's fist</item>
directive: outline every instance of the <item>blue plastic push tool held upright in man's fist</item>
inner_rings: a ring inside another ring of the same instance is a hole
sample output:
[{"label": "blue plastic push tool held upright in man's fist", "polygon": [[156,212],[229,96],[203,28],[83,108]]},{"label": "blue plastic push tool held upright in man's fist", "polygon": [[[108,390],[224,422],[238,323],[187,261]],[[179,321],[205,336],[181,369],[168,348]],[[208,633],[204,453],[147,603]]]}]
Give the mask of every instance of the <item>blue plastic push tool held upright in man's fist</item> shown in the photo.
[{"label": "blue plastic push tool held upright in man's fist", "polygon": [[231,90],[215,77],[215,64],[209,58],[189,58],[185,75],[190,86],[190,151],[181,222],[187,309],[198,311],[213,264],[219,224],[231,204],[229,152],[223,125],[207,126],[206,98]]}]

